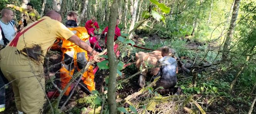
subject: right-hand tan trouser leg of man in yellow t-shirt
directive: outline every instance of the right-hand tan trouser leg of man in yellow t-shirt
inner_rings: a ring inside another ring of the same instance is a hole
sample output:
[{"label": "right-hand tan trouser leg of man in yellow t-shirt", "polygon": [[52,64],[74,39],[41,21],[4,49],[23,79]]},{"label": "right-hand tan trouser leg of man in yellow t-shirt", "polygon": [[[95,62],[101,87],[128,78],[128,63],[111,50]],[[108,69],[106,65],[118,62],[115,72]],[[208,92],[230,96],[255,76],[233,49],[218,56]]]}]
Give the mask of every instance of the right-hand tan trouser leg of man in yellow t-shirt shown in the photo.
[{"label": "right-hand tan trouser leg of man in yellow t-shirt", "polygon": [[[17,80],[22,111],[26,114],[41,114],[45,103],[45,78],[42,65],[34,64],[26,66],[31,72],[20,72]],[[29,78],[24,78],[24,76]]]}]

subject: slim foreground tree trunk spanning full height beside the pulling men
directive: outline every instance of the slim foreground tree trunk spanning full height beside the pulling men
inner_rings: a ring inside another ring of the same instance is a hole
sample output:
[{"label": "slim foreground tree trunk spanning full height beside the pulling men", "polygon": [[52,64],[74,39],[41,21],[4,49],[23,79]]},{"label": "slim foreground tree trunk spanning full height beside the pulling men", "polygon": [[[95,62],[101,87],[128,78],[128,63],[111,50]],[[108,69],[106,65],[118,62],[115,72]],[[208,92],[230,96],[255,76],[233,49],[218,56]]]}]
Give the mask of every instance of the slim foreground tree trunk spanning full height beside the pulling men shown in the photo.
[{"label": "slim foreground tree trunk spanning full height beside the pulling men", "polygon": [[108,80],[108,106],[109,114],[117,114],[116,111],[116,71],[118,61],[114,52],[114,36],[116,28],[116,17],[118,14],[118,7],[120,0],[113,0],[110,7],[109,24],[108,24],[108,60],[109,60],[109,80]]}]

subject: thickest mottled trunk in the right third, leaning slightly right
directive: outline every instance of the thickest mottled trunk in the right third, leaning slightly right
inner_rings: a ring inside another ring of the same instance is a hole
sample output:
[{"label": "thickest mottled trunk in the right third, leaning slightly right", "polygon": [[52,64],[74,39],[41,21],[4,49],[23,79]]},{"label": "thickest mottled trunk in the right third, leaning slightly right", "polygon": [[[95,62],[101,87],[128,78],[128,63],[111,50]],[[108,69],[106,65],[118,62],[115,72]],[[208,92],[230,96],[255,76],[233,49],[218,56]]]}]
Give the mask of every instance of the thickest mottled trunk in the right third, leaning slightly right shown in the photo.
[{"label": "thickest mottled trunk in the right third, leaning slightly right", "polygon": [[232,13],[232,17],[231,17],[231,22],[230,22],[229,30],[228,30],[226,40],[225,40],[224,46],[223,46],[222,61],[227,60],[227,55],[228,55],[227,51],[230,48],[229,44],[230,44],[231,39],[233,37],[234,27],[236,25],[236,18],[237,18],[238,10],[239,10],[239,3],[240,3],[240,0],[235,0],[234,1],[234,7],[233,7],[233,13]]}]

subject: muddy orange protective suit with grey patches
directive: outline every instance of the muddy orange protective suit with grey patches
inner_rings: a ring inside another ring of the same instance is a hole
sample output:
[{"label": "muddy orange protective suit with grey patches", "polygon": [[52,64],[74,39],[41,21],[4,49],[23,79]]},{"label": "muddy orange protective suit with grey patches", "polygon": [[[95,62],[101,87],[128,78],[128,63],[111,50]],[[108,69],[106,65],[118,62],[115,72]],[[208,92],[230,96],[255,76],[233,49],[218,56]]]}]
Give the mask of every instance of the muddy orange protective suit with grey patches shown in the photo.
[{"label": "muddy orange protective suit with grey patches", "polygon": [[[88,41],[89,35],[84,27],[69,28],[81,40]],[[76,44],[62,38],[62,64],[61,64],[61,88],[67,86],[74,73],[81,71],[89,60],[87,51],[81,49]],[[88,70],[83,73],[82,80],[87,88],[92,91],[95,90],[93,66],[89,66]],[[71,87],[69,86],[64,95],[69,95]]]}]

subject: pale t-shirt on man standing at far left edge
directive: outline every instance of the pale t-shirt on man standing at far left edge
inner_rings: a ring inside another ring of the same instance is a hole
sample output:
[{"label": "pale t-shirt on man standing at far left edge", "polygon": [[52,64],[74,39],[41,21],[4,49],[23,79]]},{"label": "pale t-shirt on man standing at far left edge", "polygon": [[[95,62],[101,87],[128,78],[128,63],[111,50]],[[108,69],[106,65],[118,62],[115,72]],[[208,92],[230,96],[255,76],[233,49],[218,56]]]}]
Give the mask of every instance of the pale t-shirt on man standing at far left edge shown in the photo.
[{"label": "pale t-shirt on man standing at far left edge", "polygon": [[[2,28],[3,34],[5,35],[5,38],[8,39],[8,41],[12,41],[15,36],[15,29],[12,22],[8,22],[8,24],[5,24],[2,22],[2,20],[0,20],[0,26]],[[0,37],[0,45],[4,45],[2,34]]]}]

